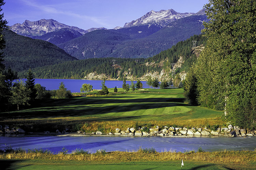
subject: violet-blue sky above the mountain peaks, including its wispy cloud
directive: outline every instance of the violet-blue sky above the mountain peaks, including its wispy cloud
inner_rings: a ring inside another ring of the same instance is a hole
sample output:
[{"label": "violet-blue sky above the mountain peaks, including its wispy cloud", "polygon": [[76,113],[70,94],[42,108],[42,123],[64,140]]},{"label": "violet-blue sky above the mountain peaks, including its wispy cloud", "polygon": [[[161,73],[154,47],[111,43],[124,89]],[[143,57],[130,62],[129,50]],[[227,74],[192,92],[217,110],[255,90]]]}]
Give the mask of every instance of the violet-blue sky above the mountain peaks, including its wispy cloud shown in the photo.
[{"label": "violet-blue sky above the mountain peaks, including its wispy cloud", "polygon": [[84,30],[113,29],[151,10],[196,13],[206,3],[208,0],[5,0],[2,12],[9,26],[26,19],[54,19]]}]

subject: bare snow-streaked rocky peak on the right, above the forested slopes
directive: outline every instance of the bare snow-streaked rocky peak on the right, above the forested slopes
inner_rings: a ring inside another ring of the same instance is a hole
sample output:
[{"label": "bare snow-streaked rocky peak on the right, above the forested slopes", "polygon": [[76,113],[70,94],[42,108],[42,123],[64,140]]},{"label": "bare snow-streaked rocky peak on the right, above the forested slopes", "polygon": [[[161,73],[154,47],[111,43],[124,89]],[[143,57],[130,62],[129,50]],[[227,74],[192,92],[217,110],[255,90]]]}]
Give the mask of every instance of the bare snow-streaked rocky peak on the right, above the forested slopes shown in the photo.
[{"label": "bare snow-streaked rocky peak on the right, above the forested slopes", "polygon": [[171,21],[175,21],[180,18],[188,17],[193,15],[194,13],[178,13],[173,9],[170,10],[161,10],[161,11],[153,11],[151,10],[146,15],[142,16],[137,20],[133,20],[131,22],[125,23],[123,28],[132,27],[132,26],[140,26],[140,25],[158,25],[161,28],[167,26]]}]

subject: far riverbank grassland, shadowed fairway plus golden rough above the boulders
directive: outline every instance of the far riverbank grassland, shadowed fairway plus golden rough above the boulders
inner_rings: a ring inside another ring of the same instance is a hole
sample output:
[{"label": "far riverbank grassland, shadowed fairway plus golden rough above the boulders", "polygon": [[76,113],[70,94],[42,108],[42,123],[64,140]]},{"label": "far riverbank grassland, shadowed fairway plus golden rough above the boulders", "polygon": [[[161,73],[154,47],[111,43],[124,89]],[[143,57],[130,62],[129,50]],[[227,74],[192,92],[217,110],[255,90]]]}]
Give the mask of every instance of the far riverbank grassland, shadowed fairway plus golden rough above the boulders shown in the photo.
[{"label": "far riverbank grassland, shadowed fairway plus golden rough above the boulders", "polygon": [[55,132],[69,128],[94,132],[101,128],[106,133],[115,128],[131,128],[137,122],[147,126],[225,125],[222,111],[191,106],[183,100],[183,89],[144,89],[110,96],[44,99],[31,108],[1,113],[0,124],[27,131]]}]

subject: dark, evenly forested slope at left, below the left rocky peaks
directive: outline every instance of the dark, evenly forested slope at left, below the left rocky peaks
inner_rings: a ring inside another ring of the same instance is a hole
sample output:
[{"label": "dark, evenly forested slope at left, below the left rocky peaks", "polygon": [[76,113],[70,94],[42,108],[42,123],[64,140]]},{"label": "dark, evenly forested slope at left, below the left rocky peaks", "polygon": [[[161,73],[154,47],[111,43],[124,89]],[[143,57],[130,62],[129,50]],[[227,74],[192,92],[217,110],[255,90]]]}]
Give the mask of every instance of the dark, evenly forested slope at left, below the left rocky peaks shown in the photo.
[{"label": "dark, evenly forested slope at left, below the left rocky peaks", "polygon": [[4,31],[4,38],[4,64],[15,71],[77,60],[47,41],[18,35],[11,30]]}]

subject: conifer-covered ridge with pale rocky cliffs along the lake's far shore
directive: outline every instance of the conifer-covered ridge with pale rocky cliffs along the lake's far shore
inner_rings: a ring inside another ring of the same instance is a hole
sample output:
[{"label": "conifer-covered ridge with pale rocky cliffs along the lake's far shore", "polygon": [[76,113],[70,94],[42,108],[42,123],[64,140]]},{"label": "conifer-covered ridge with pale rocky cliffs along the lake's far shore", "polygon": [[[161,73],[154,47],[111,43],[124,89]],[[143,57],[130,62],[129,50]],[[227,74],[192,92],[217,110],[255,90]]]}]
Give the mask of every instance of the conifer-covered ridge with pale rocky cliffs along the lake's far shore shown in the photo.
[{"label": "conifer-covered ridge with pale rocky cliffs along the lake's far shore", "polygon": [[[184,58],[184,63],[177,67],[176,74],[187,71],[191,64],[195,62],[197,56],[192,40],[197,40],[197,45],[205,45],[206,38],[201,35],[194,35],[186,41],[177,43],[172,48],[162,51],[159,54],[138,61],[132,58],[91,58],[79,61],[69,61],[55,65],[48,65],[32,69],[35,78],[56,78],[56,79],[83,79],[90,73],[104,74],[108,79],[122,80],[124,74],[132,79],[142,78],[147,73],[160,72],[165,69],[170,72],[171,63],[176,63],[180,56]],[[114,65],[113,65],[113,61]],[[26,71],[19,72],[20,77],[25,77]],[[173,78],[174,75],[166,75]]]}]

